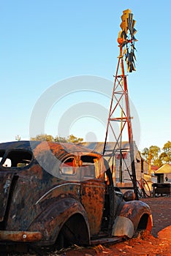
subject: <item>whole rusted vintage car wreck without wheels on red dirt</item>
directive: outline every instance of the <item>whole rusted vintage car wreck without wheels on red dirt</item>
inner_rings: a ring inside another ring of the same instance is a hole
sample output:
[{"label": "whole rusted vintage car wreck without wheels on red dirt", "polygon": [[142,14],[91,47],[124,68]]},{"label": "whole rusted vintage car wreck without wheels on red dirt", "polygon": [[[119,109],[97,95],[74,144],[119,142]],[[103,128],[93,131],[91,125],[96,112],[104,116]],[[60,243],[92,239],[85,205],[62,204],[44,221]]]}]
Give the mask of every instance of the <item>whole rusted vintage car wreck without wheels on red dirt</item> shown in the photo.
[{"label": "whole rusted vintage car wreck without wheels on red dirt", "polygon": [[61,248],[151,230],[148,205],[116,191],[107,162],[88,148],[15,141],[0,143],[0,159],[0,244]]}]

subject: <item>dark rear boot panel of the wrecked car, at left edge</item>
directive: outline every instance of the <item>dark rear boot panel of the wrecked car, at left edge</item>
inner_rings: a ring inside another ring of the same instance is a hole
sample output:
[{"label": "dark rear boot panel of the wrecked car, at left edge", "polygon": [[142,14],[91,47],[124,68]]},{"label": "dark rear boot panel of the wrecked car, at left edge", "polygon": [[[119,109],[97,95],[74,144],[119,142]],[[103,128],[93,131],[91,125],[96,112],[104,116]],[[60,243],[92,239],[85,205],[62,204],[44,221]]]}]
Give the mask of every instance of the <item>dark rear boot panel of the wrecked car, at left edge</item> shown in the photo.
[{"label": "dark rear boot panel of the wrecked car, at left edge", "polygon": [[13,176],[14,173],[0,172],[0,222],[4,220]]}]

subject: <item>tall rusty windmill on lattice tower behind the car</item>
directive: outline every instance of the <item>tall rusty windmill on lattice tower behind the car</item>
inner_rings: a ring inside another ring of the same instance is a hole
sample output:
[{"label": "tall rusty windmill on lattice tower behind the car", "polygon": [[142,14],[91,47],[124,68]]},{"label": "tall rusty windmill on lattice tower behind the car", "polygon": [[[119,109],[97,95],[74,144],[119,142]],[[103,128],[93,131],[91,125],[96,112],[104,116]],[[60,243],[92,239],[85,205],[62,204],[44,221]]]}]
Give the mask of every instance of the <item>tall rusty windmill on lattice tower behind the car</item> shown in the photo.
[{"label": "tall rusty windmill on lattice tower behind the car", "polygon": [[[130,115],[129,108],[129,95],[127,88],[127,79],[124,70],[123,58],[126,62],[127,72],[135,71],[135,55],[134,43],[137,41],[134,34],[136,34],[136,29],[134,25],[136,21],[133,19],[133,14],[131,10],[124,10],[123,15],[121,16],[121,31],[118,33],[118,47],[119,47],[119,56],[118,56],[118,65],[116,68],[114,76],[114,86],[113,86],[113,95],[110,103],[110,111],[107,121],[107,130],[104,140],[103,155],[108,158],[108,162],[112,162],[112,171],[115,167],[115,159],[120,158],[120,167],[119,167],[119,180],[122,182],[122,165],[126,165],[124,160],[124,154],[130,155],[131,168],[126,167],[126,170],[129,172],[129,176],[132,180],[134,186],[134,192],[136,199],[137,195],[137,181],[136,173],[134,166],[134,144],[133,144],[133,135],[132,135],[132,117]],[[120,129],[116,129],[119,124]],[[127,128],[126,128],[127,127]],[[126,131],[125,131],[126,130]],[[123,134],[127,134],[129,140],[129,146],[123,148]],[[114,147],[109,148],[108,137],[111,134],[113,140],[115,141]],[[111,161],[112,160],[112,161]]]}]

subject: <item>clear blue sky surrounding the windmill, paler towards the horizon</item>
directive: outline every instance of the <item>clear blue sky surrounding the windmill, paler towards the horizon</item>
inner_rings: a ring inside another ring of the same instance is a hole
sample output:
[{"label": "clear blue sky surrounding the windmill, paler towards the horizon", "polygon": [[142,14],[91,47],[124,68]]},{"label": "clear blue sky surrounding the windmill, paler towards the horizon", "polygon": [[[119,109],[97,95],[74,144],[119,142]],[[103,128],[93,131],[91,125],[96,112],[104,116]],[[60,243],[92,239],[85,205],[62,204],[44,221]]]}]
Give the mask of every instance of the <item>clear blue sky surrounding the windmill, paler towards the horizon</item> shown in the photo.
[{"label": "clear blue sky surrounding the windmill, paler towards the horizon", "polygon": [[[29,138],[34,105],[54,83],[80,75],[113,81],[116,39],[126,9],[137,20],[137,71],[129,74],[128,85],[140,119],[140,150],[151,145],[162,148],[171,140],[170,0],[9,0],[0,3],[0,142],[15,140],[16,135]],[[44,132],[57,135],[58,124],[51,123],[50,116],[53,120],[62,106],[66,113],[68,101],[72,108],[77,102],[71,96],[51,108]],[[110,105],[109,98],[90,94],[80,95],[78,103],[86,97],[99,100],[99,105],[103,102],[107,109]],[[69,132],[83,138],[94,132],[98,118],[75,118]],[[83,129],[88,123],[93,127]],[[101,134],[99,130],[98,140],[103,141],[104,125]]]}]

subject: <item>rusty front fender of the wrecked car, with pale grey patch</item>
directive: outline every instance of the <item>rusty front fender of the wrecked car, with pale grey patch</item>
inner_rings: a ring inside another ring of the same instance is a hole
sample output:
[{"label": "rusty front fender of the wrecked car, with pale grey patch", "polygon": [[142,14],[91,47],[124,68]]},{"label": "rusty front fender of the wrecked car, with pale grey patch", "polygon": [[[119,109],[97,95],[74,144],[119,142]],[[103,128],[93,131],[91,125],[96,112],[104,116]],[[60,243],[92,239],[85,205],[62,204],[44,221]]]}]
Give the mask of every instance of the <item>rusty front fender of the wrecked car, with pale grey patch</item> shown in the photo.
[{"label": "rusty front fender of the wrecked car, with pale grey patch", "polygon": [[146,218],[145,229],[151,231],[153,226],[151,209],[146,203],[140,200],[121,203],[119,214],[113,224],[112,236],[132,238],[143,216]]}]

